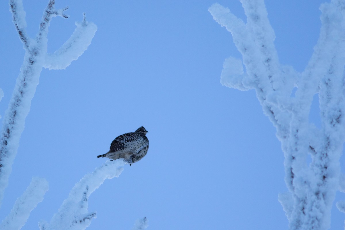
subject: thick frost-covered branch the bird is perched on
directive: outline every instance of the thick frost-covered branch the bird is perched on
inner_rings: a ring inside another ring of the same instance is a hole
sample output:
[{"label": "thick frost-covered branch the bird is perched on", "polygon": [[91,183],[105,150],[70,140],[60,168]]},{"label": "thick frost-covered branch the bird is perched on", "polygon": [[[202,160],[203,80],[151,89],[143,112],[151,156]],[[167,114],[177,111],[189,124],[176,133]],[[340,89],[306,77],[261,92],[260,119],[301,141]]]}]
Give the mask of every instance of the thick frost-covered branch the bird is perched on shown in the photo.
[{"label": "thick frost-covered branch the bird is perched on", "polygon": [[68,198],[63,201],[59,211],[54,214],[50,223],[41,222],[41,230],[53,229],[74,229],[87,228],[92,218],[96,217],[95,212],[88,212],[88,199],[90,194],[99,188],[106,180],[118,177],[124,166],[123,159],[107,161],[92,173],[86,174],[70,191]]}]

